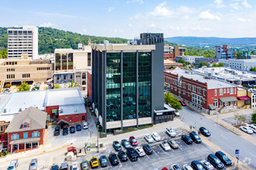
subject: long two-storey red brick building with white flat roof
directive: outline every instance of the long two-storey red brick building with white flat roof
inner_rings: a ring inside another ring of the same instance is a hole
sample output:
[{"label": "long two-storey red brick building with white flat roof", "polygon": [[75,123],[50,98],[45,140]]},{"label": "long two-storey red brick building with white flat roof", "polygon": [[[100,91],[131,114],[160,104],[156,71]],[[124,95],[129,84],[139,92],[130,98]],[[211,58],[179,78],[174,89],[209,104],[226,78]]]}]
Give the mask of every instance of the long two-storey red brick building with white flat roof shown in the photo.
[{"label": "long two-storey red brick building with white flat roof", "polygon": [[206,112],[237,107],[236,85],[192,71],[179,68],[164,71],[164,86],[187,104]]}]

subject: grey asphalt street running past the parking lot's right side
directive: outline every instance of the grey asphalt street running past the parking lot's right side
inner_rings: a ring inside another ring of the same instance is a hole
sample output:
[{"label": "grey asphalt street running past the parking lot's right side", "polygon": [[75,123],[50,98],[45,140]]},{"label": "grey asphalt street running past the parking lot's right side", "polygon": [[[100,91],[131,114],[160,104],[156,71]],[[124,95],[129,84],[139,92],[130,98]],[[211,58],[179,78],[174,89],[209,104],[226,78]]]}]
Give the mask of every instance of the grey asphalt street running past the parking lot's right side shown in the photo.
[{"label": "grey asphalt street running past the parking lot's right side", "polygon": [[183,107],[182,110],[179,110],[179,113],[182,121],[189,126],[192,125],[197,131],[201,126],[207,128],[212,134],[209,140],[213,141],[213,143],[227,151],[230,155],[236,157],[235,150],[240,149],[240,161],[244,162],[251,169],[256,169],[256,144],[253,145],[244,138],[240,138],[237,134],[203,117],[190,107]]}]

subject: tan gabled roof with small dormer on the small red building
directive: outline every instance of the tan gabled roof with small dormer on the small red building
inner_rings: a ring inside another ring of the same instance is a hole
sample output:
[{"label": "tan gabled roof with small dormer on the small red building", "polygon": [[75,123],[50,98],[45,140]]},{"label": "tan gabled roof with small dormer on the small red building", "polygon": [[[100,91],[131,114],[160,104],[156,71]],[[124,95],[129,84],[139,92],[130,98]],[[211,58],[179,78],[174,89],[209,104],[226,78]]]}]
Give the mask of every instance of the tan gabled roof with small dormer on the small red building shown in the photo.
[{"label": "tan gabled roof with small dormer on the small red building", "polygon": [[[47,121],[47,113],[35,107],[29,107],[13,117],[6,129],[6,133],[19,131],[34,131],[44,129]],[[29,124],[28,128],[21,128],[22,124]]]}]

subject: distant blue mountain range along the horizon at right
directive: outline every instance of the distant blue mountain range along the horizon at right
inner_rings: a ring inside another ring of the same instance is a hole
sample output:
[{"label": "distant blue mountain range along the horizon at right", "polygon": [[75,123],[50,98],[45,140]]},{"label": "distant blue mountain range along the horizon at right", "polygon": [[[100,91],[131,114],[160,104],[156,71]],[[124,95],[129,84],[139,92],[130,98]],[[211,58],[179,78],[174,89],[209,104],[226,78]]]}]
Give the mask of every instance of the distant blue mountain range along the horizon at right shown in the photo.
[{"label": "distant blue mountain range along the horizon at right", "polygon": [[219,38],[219,37],[198,37],[198,36],[175,36],[165,38],[168,42],[175,42],[180,45],[196,46],[196,45],[233,45],[248,46],[255,45],[256,38]]}]

